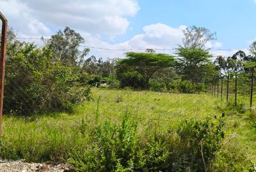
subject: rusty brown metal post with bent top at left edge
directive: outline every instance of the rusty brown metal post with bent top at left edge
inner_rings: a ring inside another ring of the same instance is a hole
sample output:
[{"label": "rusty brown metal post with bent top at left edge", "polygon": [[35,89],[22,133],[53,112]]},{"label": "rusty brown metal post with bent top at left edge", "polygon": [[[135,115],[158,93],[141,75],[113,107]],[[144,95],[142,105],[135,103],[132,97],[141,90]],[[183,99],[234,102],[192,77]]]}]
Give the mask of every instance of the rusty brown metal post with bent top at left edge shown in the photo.
[{"label": "rusty brown metal post with bent top at left edge", "polygon": [[7,39],[7,20],[0,11],[0,19],[2,20],[1,33],[1,59],[0,59],[0,136],[2,134],[2,119],[3,119],[3,101],[4,101],[4,69],[6,56],[6,39]]}]

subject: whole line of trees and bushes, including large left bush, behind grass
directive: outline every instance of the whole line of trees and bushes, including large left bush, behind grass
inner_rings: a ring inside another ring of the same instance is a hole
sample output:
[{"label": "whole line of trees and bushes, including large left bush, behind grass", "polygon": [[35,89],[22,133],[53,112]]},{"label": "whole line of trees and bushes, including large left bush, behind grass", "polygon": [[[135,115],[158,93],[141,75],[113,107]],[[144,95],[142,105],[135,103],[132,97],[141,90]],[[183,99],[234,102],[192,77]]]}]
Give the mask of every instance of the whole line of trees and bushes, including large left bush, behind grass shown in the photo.
[{"label": "whole line of trees and bushes, including large left bush, behind grass", "polygon": [[230,57],[215,59],[206,45],[216,33],[205,27],[184,30],[182,45],[175,55],[127,52],[125,58],[103,60],[86,57],[81,49],[84,38],[70,27],[44,45],[17,40],[8,30],[5,113],[45,113],[70,111],[74,104],[90,99],[90,87],[131,88],[169,92],[204,92],[207,83],[218,76],[234,76],[248,71],[256,63],[256,41],[250,54],[239,50]]}]

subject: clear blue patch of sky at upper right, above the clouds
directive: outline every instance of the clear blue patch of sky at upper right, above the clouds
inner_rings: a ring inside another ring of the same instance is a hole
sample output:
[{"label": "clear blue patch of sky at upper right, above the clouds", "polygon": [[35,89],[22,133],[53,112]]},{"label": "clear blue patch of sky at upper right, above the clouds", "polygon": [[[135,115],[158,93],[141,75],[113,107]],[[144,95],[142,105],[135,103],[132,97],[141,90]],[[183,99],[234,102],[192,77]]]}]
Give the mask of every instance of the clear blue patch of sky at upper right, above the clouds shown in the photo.
[{"label": "clear blue patch of sky at upper right, above the clouds", "polygon": [[140,11],[131,30],[116,39],[125,41],[140,34],[143,26],[163,23],[172,27],[196,25],[217,33],[223,48],[247,48],[256,38],[256,3],[253,0],[139,0]]}]

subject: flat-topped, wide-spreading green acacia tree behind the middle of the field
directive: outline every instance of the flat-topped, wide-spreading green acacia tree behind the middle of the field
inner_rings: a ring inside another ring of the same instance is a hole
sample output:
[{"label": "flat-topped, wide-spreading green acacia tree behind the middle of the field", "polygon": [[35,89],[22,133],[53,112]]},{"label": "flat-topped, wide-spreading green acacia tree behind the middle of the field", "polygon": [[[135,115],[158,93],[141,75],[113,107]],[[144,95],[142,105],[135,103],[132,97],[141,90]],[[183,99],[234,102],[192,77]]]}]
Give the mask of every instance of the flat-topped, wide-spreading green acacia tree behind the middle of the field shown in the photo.
[{"label": "flat-topped, wide-spreading green acacia tree behind the middle of the field", "polygon": [[146,89],[157,70],[171,67],[175,62],[173,56],[167,54],[127,52],[126,56],[126,59],[117,61],[118,78],[131,74],[132,77],[143,80]]}]

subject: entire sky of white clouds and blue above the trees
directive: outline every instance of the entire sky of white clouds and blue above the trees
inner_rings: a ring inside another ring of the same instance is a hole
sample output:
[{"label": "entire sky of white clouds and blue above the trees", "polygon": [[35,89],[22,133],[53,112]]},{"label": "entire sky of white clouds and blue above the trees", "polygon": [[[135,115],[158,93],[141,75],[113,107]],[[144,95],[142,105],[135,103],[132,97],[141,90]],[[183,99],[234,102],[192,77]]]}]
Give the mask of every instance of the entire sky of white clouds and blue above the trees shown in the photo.
[{"label": "entire sky of white clouds and blue above the trees", "polygon": [[256,39],[256,0],[0,0],[0,11],[19,38],[49,37],[69,26],[88,47],[117,49],[91,48],[90,55],[104,59],[124,57],[123,49],[175,48],[190,25],[217,33],[207,45],[214,55]]}]

